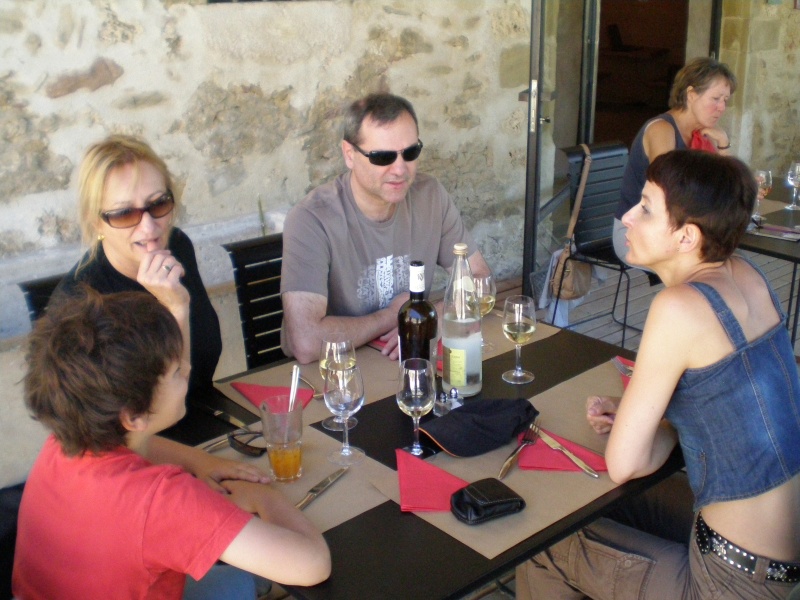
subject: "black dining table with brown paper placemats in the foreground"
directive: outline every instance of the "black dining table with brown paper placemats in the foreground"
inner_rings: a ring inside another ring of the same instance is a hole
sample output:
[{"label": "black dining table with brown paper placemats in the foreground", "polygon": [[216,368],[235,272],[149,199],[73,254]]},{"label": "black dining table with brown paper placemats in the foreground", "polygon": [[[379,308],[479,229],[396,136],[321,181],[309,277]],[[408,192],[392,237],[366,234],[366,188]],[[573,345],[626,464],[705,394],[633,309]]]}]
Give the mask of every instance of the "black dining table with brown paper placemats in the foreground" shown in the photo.
[{"label": "black dining table with brown paper placemats in the foreground", "polygon": [[[608,436],[595,433],[588,425],[585,400],[590,394],[621,395],[622,378],[610,360],[615,356],[633,359],[634,354],[540,323],[533,339],[522,347],[523,366],[533,371],[535,379],[512,385],[501,377],[515,363],[514,344],[502,335],[501,315],[496,309],[484,317],[483,336],[489,344],[484,350],[483,386],[466,402],[526,399],[539,411],[543,428],[602,454]],[[365,403],[354,415],[358,423],[349,435],[350,443],[364,450],[366,458],[305,508],[331,549],[332,572],[315,586],[284,586],[294,598],[461,598],[683,465],[676,451],[652,475],[622,485],[611,481],[605,471],[593,478],[580,471],[514,467],[503,481],[525,500],[521,512],[480,525],[464,524],[449,511],[404,512],[399,504],[395,452],[410,445],[413,428],[411,418],[400,411],[395,400],[398,363],[369,346],[357,350],[356,361],[364,377]],[[226,377],[216,383],[217,389],[256,417],[256,403],[237,390],[238,384],[265,386],[267,391],[288,387],[295,364],[287,360]],[[320,426],[330,413],[320,399],[323,384],[318,364],[301,365],[300,369],[305,381],[301,387],[312,387],[315,394],[303,410],[303,474],[292,482],[272,484],[280,486],[292,502],[298,502],[315,483],[339,468],[326,457],[342,443],[341,432]],[[436,418],[432,413],[423,417],[423,427]],[[254,428],[259,425],[257,422]],[[435,448],[424,435],[423,442]],[[516,439],[509,439],[500,448],[471,458],[439,451],[426,461],[474,482],[497,477],[516,444]],[[268,471],[267,455],[245,457],[230,447],[219,452],[252,461]]]}]

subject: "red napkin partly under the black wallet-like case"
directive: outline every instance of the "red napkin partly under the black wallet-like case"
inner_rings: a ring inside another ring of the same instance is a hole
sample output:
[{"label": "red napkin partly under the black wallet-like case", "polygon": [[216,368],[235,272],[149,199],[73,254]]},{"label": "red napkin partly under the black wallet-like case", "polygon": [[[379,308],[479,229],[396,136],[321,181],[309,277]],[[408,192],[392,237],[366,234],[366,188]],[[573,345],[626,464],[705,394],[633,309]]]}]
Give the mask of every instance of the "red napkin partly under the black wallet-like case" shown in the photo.
[{"label": "red napkin partly under the black wallet-like case", "polygon": [[448,511],[450,496],[469,485],[460,477],[426,463],[405,450],[395,450],[395,456],[402,511]]}]

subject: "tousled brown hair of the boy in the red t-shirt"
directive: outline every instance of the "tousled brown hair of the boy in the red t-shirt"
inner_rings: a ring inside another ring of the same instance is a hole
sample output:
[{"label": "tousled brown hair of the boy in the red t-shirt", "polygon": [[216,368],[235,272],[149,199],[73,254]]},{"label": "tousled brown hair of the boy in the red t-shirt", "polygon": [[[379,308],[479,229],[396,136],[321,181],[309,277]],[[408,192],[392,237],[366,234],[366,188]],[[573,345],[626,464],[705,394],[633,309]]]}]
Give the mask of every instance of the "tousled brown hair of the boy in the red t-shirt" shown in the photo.
[{"label": "tousled brown hair of the boy in the red t-shirt", "polygon": [[107,452],[125,444],[122,410],[150,410],[159,378],[182,349],[177,321],[152,295],[84,286],[36,322],[25,402],[65,454]]}]

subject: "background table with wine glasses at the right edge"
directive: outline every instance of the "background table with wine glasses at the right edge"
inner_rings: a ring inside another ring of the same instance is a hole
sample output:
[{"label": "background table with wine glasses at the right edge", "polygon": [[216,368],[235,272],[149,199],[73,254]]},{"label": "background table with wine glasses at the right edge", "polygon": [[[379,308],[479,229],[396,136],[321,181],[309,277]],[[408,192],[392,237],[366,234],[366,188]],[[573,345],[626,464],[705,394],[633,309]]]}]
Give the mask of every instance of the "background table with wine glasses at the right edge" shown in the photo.
[{"label": "background table with wine glasses at the right edge", "polygon": [[781,185],[780,180],[777,179],[769,197],[761,201],[761,215],[763,216],[761,227],[756,227],[755,223],[752,224],[739,242],[739,248],[792,264],[789,300],[786,307],[786,326],[789,328],[792,345],[794,345],[797,340],[798,317],[800,317],[800,289],[797,289],[800,288],[797,280],[797,269],[800,265],[800,241],[797,238],[787,239],[782,236],[782,232],[770,229],[770,227],[778,226],[793,229],[800,234],[800,210],[786,210],[786,206],[791,201],[792,189]]}]

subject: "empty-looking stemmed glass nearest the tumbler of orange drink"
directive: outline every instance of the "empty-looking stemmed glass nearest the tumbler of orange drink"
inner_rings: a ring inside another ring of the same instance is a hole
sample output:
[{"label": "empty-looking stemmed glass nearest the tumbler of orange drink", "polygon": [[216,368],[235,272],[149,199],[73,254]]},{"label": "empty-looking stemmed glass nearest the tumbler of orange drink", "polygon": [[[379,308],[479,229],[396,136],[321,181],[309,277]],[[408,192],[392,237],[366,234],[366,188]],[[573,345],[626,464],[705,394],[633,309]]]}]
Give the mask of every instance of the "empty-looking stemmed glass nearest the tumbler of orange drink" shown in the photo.
[{"label": "empty-looking stemmed glass nearest the tumbler of orange drink", "polygon": [[[349,369],[338,369],[328,364],[323,390],[325,406],[337,417],[346,421],[350,415],[358,412],[364,404],[364,380],[357,366]],[[364,451],[351,446],[348,441],[349,427],[342,427],[342,448],[328,454],[328,460],[337,465],[354,465],[364,459]]]}]

